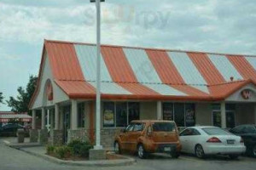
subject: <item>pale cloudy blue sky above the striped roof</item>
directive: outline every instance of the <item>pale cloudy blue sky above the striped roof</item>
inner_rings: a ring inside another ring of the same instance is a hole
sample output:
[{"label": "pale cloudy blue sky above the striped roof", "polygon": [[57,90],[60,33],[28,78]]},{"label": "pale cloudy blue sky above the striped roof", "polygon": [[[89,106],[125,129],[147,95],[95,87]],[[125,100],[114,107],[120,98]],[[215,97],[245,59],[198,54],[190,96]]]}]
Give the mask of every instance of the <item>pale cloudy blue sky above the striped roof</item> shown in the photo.
[{"label": "pale cloudy blue sky above the striped roof", "polygon": [[[0,0],[0,92],[38,75],[44,39],[96,42],[90,0]],[[254,0],[106,0],[102,43],[256,55]],[[0,111],[9,111],[0,104]]]}]

